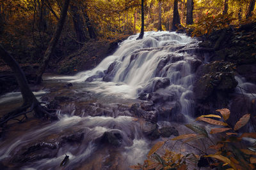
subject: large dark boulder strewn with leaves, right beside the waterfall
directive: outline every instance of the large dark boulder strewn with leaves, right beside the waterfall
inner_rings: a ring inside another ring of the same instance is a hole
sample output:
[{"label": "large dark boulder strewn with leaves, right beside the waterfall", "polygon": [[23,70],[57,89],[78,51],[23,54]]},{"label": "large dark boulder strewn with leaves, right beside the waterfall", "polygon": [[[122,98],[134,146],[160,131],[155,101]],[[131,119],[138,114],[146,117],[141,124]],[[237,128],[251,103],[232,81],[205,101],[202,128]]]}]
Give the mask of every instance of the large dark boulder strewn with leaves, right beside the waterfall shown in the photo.
[{"label": "large dark boulder strewn with leaves, right beside the waterfall", "polygon": [[223,61],[200,66],[193,87],[196,115],[228,106],[229,96],[238,84],[235,69],[234,64]]}]

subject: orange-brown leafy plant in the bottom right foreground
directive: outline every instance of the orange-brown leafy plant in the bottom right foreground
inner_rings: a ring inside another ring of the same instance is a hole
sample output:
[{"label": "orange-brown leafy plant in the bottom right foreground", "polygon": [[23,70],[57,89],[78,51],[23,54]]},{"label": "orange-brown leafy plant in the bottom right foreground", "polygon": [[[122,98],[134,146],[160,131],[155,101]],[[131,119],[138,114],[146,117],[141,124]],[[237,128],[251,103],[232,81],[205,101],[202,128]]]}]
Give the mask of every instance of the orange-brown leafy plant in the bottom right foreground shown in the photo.
[{"label": "orange-brown leafy plant in the bottom right foreground", "polygon": [[[218,167],[218,169],[228,169],[228,170],[238,170],[238,169],[255,169],[256,168],[256,143],[252,146],[246,147],[241,143],[242,138],[254,138],[256,139],[256,132],[244,132],[239,135],[237,131],[241,129],[244,125],[248,123],[251,115],[243,115],[239,121],[230,127],[226,122],[230,117],[230,110],[227,108],[216,110],[220,112],[220,115],[202,115],[196,118],[197,121],[207,122],[212,125],[220,125],[223,127],[212,128],[210,134],[220,134],[220,140],[214,143],[210,138],[208,132],[203,128],[195,124],[187,124],[186,127],[191,129],[195,134],[182,134],[173,139],[168,139],[166,141],[172,140],[182,140],[184,143],[189,145],[189,142],[198,139],[207,138],[211,141],[212,145],[208,146],[209,149],[215,150],[214,154],[208,155],[202,150],[192,146],[200,152],[204,153],[201,157],[206,159],[211,157],[214,163],[210,166]],[[218,120],[216,120],[218,119]],[[217,136],[216,136],[217,138]],[[132,169],[187,169],[188,165],[186,160],[198,160],[199,156],[194,153],[189,153],[184,156],[181,153],[172,152],[172,150],[165,150],[163,156],[158,155],[156,152],[161,148],[166,141],[157,142],[148,153],[148,159],[145,160],[144,164],[138,164],[136,166],[131,166]],[[208,160],[208,162],[210,162]]]}]

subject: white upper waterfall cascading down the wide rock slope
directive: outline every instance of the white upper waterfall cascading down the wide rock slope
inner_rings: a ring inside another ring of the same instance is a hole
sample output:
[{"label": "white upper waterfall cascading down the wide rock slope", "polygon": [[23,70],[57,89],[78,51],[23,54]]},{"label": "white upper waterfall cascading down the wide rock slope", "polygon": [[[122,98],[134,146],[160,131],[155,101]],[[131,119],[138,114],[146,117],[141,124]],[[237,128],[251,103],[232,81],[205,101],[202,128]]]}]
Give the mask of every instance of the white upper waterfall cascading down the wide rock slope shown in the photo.
[{"label": "white upper waterfall cascading down the wide rock slope", "polygon": [[166,31],[145,32],[140,40],[136,40],[137,37],[130,36],[113,55],[90,71],[51,79],[93,81],[95,85],[88,90],[129,98],[158,92],[174,98],[182,106],[182,114],[188,115],[193,103],[193,67],[198,61],[193,49],[198,46],[198,41]]}]

